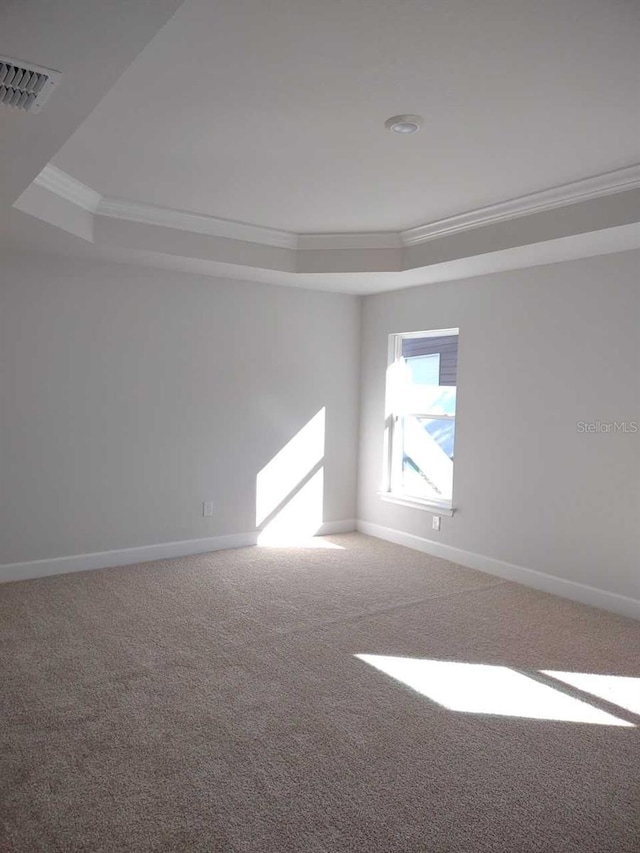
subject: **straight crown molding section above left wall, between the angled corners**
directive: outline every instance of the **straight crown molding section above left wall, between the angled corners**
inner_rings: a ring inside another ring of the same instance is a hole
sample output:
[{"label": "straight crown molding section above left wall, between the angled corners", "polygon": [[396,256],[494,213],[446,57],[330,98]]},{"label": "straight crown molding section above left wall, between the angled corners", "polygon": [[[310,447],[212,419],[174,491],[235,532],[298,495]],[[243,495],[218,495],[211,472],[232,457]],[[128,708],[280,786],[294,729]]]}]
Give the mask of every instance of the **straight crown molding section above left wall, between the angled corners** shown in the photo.
[{"label": "straight crown molding section above left wall, between the angled corners", "polygon": [[246,222],[217,219],[215,216],[206,216],[202,213],[188,213],[170,207],[142,204],[108,196],[101,198],[95,212],[98,216],[109,216],[113,219],[160,225],[164,228],[176,228],[179,231],[191,231],[194,234],[207,234],[209,237],[226,237],[245,243],[277,246],[281,249],[295,249],[298,241],[297,234],[290,231],[263,228]]}]

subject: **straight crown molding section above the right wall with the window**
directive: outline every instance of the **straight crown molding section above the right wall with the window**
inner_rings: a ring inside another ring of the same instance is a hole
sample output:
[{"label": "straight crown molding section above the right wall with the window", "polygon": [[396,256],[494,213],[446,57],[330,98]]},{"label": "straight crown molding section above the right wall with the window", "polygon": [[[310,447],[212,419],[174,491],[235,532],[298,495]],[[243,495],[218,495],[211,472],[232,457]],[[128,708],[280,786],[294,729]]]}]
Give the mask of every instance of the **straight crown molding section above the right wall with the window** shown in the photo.
[{"label": "straight crown molding section above the right wall with the window", "polygon": [[557,207],[565,207],[576,202],[589,201],[593,198],[637,189],[638,187],[640,187],[640,163],[628,166],[625,169],[574,181],[570,184],[562,184],[558,187],[542,190],[542,192],[502,201],[488,207],[480,207],[477,210],[470,210],[467,213],[460,213],[427,225],[409,228],[400,233],[400,239],[403,246],[414,246],[418,243],[435,240],[438,237],[456,234],[459,231],[469,231],[472,228],[480,228],[494,222],[503,222],[506,219],[517,219],[520,216],[529,216],[532,213],[543,213]]}]

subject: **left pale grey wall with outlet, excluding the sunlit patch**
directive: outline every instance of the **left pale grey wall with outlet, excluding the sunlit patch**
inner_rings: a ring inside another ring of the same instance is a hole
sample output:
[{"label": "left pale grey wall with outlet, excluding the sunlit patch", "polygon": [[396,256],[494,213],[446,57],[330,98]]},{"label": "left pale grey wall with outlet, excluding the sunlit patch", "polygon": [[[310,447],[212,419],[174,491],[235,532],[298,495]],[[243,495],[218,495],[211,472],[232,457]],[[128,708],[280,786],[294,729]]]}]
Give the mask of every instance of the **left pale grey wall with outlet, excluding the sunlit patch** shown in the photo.
[{"label": "left pale grey wall with outlet, excluding the sunlit patch", "polygon": [[323,406],[324,520],[353,519],[359,331],[351,296],[4,255],[0,564],[253,531]]}]

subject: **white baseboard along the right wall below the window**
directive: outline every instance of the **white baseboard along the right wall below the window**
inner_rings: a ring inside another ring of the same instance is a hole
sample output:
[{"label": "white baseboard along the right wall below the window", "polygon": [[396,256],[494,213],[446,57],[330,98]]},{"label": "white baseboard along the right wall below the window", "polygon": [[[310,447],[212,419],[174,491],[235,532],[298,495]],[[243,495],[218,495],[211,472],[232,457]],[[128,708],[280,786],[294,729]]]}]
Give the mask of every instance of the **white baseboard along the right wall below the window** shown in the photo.
[{"label": "white baseboard along the right wall below the window", "polygon": [[550,592],[552,595],[559,595],[562,598],[570,598],[572,601],[579,601],[581,604],[588,604],[591,607],[601,607],[604,610],[619,613],[621,616],[640,619],[640,601],[635,598],[628,598],[615,592],[607,592],[604,589],[597,589],[576,581],[565,580],[534,569],[525,569],[524,566],[505,563],[503,560],[474,554],[472,551],[464,551],[451,545],[442,545],[440,542],[434,542],[431,539],[423,539],[421,536],[403,533],[401,530],[382,527],[368,521],[358,520],[356,527],[357,530],[366,533],[368,536],[386,539],[396,545],[405,545],[407,548],[423,551],[426,554],[441,557],[443,560],[450,560],[452,563],[466,566],[469,569],[477,569],[480,572],[497,575],[505,580],[516,581],[525,586],[533,587],[533,589]]}]

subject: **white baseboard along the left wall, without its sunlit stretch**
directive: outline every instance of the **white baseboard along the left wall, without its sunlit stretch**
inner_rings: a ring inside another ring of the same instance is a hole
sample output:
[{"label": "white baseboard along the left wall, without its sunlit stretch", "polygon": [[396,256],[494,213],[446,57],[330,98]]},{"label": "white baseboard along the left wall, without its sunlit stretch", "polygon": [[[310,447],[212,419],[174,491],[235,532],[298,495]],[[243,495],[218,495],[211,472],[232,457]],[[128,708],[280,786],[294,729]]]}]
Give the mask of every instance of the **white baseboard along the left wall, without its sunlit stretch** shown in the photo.
[{"label": "white baseboard along the left wall, without its sunlit stretch", "polygon": [[[350,533],[355,529],[356,522],[354,519],[327,521],[322,525],[317,535]],[[228,548],[244,548],[249,545],[256,545],[257,542],[258,531],[253,531],[251,533],[231,533],[227,536],[211,536],[206,539],[184,539],[179,542],[162,542],[159,545],[121,548],[117,551],[76,554],[72,557],[53,557],[50,560],[5,563],[0,565],[0,583],[42,578],[47,575],[62,575],[68,572],[84,572],[89,569],[129,566],[136,563],[148,563],[151,560],[165,560],[172,557],[186,557],[189,554],[223,551]]]}]

